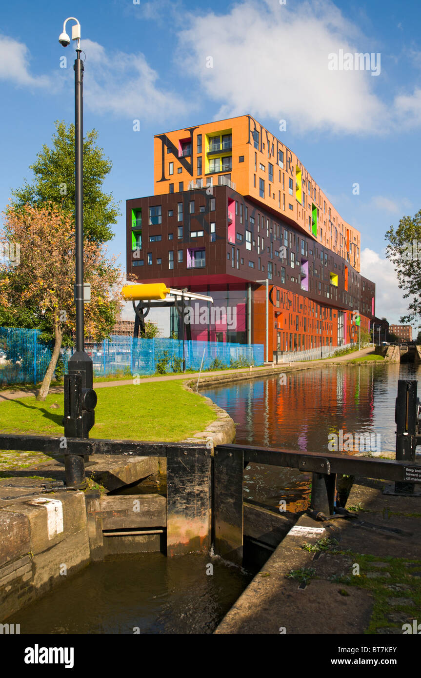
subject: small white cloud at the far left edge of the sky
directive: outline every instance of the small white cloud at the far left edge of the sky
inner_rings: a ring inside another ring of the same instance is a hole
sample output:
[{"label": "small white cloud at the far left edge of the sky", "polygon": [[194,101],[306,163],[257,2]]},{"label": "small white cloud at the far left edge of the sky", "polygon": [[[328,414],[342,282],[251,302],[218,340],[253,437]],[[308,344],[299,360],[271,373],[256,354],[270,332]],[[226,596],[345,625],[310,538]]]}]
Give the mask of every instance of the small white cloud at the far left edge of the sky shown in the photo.
[{"label": "small white cloud at the far left edge of the sky", "polygon": [[29,72],[31,55],[24,43],[7,35],[0,35],[0,80],[12,81],[15,85],[48,87],[47,75],[33,76]]}]

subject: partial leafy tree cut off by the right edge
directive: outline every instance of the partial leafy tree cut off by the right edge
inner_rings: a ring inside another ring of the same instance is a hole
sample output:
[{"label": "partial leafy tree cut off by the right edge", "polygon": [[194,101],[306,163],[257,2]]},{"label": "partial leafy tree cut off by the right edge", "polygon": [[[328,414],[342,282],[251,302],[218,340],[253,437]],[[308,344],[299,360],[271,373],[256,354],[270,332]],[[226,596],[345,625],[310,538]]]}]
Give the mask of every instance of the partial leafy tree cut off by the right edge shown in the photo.
[{"label": "partial leafy tree cut off by the right edge", "polygon": [[403,216],[394,230],[386,231],[386,257],[395,266],[399,289],[405,290],[404,299],[410,299],[407,315],[401,323],[418,323],[421,319],[421,210],[414,217]]}]

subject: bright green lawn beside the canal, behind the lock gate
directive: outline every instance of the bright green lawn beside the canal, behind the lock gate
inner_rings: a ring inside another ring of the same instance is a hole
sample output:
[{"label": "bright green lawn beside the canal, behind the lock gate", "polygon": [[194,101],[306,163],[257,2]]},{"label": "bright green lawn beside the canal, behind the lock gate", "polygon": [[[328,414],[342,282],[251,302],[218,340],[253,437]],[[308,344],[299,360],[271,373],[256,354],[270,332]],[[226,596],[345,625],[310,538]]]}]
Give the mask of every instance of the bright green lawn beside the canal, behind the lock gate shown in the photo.
[{"label": "bright green lawn beside the canal, behind the lock gate", "polygon": [[[180,381],[110,386],[97,395],[91,438],[178,441],[216,419],[203,398],[185,391]],[[2,433],[61,436],[62,417],[62,393],[48,395],[43,403],[31,396],[0,403]]]}]

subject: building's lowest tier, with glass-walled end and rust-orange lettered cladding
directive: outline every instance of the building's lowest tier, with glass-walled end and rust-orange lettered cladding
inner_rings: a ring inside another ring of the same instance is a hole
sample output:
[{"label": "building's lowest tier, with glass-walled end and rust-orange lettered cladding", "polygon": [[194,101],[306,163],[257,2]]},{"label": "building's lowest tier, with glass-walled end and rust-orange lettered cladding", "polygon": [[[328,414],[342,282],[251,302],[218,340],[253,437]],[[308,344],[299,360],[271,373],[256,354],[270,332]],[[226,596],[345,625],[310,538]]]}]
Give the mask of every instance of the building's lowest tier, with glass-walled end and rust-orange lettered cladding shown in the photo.
[{"label": "building's lowest tier, with glass-walled end and rust-orange lettered cladding", "polygon": [[[172,336],[197,341],[266,344],[266,286],[251,283],[191,286],[189,292],[212,296],[214,302],[186,300],[184,319],[171,310]],[[370,321],[361,315],[361,327]],[[357,342],[359,329],[352,311],[325,306],[269,285],[268,359],[274,353],[308,351],[321,346]]]}]

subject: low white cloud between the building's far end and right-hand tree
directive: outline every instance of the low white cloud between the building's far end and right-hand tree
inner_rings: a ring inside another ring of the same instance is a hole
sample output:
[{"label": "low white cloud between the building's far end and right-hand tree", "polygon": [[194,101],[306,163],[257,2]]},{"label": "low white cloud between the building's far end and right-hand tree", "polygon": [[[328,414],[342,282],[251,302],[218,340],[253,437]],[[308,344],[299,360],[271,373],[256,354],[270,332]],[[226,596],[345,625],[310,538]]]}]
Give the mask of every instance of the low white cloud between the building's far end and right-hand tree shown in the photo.
[{"label": "low white cloud between the building's far end and right-hand tree", "polygon": [[361,252],[361,275],[376,283],[376,317],[399,324],[399,318],[407,312],[409,300],[403,299],[392,262],[365,247]]}]

